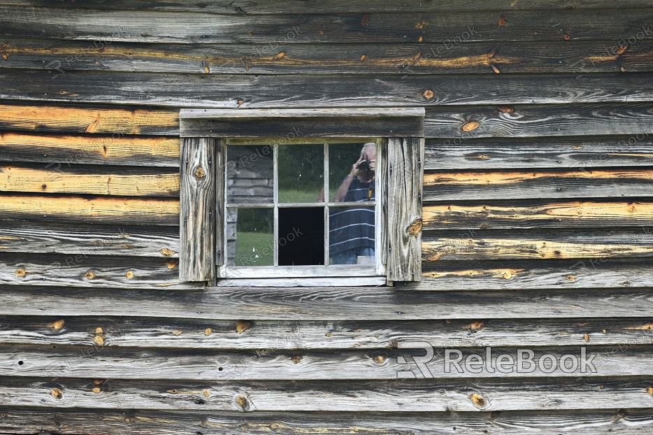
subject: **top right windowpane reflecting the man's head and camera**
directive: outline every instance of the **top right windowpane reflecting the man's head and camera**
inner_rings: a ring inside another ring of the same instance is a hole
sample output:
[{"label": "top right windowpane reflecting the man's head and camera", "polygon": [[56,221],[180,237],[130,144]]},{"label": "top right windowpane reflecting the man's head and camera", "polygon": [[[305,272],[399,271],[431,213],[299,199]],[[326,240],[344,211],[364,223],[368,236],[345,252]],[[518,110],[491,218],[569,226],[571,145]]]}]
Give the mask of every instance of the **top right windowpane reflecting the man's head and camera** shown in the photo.
[{"label": "top right windowpane reflecting the man's head and camera", "polygon": [[375,143],[329,143],[329,199],[373,200],[375,169]]}]

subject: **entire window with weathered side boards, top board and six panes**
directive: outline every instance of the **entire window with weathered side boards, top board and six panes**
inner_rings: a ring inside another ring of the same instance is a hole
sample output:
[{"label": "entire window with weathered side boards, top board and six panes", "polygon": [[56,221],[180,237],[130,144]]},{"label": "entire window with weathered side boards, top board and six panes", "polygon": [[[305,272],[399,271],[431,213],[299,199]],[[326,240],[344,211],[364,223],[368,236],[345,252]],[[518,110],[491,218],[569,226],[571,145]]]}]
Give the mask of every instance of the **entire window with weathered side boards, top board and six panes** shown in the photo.
[{"label": "entire window with weathered side boards, top board and six panes", "polygon": [[182,110],[180,130],[181,280],[419,280],[424,109]]}]

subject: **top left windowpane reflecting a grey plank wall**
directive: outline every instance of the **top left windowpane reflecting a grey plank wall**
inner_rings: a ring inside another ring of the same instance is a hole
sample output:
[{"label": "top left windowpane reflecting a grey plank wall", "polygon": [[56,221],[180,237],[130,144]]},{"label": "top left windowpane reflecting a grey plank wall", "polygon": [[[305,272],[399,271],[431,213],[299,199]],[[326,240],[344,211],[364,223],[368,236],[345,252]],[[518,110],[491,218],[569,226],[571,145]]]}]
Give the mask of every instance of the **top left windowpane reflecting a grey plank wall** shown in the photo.
[{"label": "top left windowpane reflecting a grey plank wall", "polygon": [[273,158],[271,145],[227,146],[227,202],[271,204]]}]

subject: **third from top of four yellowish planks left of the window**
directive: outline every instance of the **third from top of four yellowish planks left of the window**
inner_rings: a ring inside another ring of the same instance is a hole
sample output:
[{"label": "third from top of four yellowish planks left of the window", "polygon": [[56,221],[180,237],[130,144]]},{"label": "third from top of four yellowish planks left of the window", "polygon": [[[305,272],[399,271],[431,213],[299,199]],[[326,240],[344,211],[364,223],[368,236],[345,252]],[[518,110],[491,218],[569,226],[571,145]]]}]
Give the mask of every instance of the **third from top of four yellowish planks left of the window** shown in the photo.
[{"label": "third from top of four yellowish planks left of the window", "polygon": [[179,197],[179,169],[0,164],[0,192]]}]

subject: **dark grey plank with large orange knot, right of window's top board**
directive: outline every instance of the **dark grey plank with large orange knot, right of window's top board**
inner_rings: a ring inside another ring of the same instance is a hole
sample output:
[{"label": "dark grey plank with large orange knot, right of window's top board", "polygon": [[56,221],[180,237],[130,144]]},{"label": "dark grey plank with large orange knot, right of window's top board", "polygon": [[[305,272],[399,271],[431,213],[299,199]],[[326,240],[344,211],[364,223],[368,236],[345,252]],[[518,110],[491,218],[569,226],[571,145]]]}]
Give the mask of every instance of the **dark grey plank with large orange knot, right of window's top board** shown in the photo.
[{"label": "dark grey plank with large orange knot, right of window's top board", "polygon": [[[534,80],[537,81],[537,80]],[[582,82],[582,80],[578,80]],[[443,144],[455,146],[470,138],[578,135],[628,135],[626,143],[613,147],[629,149],[653,138],[651,104],[573,104],[520,106],[429,107],[427,137],[452,138]],[[631,138],[629,143],[628,139]]]}]

